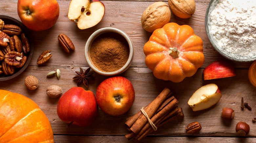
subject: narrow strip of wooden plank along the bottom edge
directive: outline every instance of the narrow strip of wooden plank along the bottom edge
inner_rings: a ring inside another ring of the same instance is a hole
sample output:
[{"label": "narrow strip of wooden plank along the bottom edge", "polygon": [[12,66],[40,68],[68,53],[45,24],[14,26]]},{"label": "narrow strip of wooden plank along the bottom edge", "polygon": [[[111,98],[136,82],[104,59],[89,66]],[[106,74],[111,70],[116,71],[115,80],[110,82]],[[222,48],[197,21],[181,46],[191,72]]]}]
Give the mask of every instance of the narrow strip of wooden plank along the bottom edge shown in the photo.
[{"label": "narrow strip of wooden plank along the bottom edge", "polygon": [[[133,140],[127,140],[124,136],[64,136],[64,135],[54,135],[55,143],[134,143]],[[230,137],[158,137],[149,136],[145,137],[140,143],[234,143],[234,142],[256,142],[256,138],[230,138]]]}]

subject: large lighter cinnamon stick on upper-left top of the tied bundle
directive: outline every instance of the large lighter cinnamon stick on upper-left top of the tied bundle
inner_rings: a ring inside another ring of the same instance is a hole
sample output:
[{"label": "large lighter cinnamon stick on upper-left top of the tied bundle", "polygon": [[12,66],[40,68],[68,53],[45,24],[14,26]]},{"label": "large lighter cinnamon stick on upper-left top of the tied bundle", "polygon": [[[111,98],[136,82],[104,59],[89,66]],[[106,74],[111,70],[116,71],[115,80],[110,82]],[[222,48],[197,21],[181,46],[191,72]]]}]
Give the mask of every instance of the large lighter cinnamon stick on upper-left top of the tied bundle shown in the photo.
[{"label": "large lighter cinnamon stick on upper-left top of the tied bundle", "polygon": [[[165,87],[163,91],[158,95],[158,97],[148,105],[147,109],[145,109],[145,112],[147,113],[149,119],[153,116],[160,104],[166,99],[167,95],[170,92],[170,89]],[[142,114],[139,116],[139,118],[135,121],[130,129],[131,131],[133,131],[134,134],[137,135],[147,122],[148,119]]]}]

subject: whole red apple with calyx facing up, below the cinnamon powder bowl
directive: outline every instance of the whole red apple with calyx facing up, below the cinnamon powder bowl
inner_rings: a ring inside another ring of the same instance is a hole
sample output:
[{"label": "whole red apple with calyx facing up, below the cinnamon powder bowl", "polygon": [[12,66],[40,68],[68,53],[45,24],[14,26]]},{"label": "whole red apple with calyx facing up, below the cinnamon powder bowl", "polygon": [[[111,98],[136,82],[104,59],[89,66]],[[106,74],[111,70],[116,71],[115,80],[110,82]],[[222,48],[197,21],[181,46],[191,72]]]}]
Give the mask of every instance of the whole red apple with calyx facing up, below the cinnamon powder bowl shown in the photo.
[{"label": "whole red apple with calyx facing up, below the cinnamon powder bowl", "polygon": [[109,115],[127,112],[135,100],[132,83],[125,77],[116,76],[104,80],[96,90],[96,101],[100,109]]}]

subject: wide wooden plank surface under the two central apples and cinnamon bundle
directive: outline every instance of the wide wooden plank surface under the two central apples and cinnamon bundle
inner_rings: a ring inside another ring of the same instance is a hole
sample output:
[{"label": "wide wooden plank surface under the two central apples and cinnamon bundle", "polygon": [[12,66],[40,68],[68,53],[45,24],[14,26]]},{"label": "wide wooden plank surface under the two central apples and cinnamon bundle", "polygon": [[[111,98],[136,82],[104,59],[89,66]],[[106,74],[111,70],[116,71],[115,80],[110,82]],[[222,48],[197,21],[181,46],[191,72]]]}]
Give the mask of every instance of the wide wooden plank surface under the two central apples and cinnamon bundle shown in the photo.
[{"label": "wide wooden plank surface under the two central apples and cinnamon bundle", "polygon": [[[60,69],[61,77],[58,80],[56,77],[47,78],[46,74],[49,71]],[[87,69],[88,67],[82,67]],[[129,68],[124,73],[120,74],[128,78],[135,88],[136,100],[131,109],[120,116],[110,116],[99,110],[99,115],[95,122],[87,127],[79,127],[72,125],[70,128],[65,128],[66,123],[62,122],[56,113],[56,106],[59,98],[51,99],[46,95],[47,87],[51,85],[60,86],[63,93],[71,87],[76,87],[76,80],[72,77],[76,75],[75,71],[79,71],[78,67],[50,67],[50,66],[29,66],[25,72],[19,77],[0,82],[1,89],[10,90],[23,94],[33,101],[45,112],[51,122],[54,134],[71,134],[71,135],[125,135],[128,133],[124,126],[125,118],[136,114],[141,107],[146,106],[154,100],[164,87],[171,89],[173,96],[179,101],[179,107],[182,107],[184,119],[168,123],[162,126],[152,135],[161,136],[187,136],[185,126],[191,122],[199,121],[202,124],[202,130],[193,136],[237,136],[235,126],[239,121],[247,122],[252,128],[248,136],[256,137],[256,132],[253,128],[254,123],[251,121],[255,117],[256,96],[255,87],[253,87],[247,78],[247,69],[237,69],[237,75],[215,80],[203,80],[203,69],[199,69],[192,77],[185,78],[180,83],[163,81],[157,79],[148,68]],[[94,71],[91,71],[94,72]],[[28,75],[34,75],[39,80],[39,87],[34,91],[28,90],[24,85],[24,79]],[[95,80],[89,81],[89,87],[84,85],[80,87],[86,90],[91,90],[96,94],[97,86],[105,80],[106,76],[99,75],[94,72]],[[209,83],[215,83],[219,86],[222,98],[213,107],[194,112],[188,106],[187,101],[196,89]],[[11,85],[11,87],[10,87]],[[252,107],[249,111],[246,108],[242,111],[240,108],[241,97],[244,97],[245,102]],[[229,107],[235,110],[235,118],[226,122],[221,119],[220,113],[224,107]]]}]

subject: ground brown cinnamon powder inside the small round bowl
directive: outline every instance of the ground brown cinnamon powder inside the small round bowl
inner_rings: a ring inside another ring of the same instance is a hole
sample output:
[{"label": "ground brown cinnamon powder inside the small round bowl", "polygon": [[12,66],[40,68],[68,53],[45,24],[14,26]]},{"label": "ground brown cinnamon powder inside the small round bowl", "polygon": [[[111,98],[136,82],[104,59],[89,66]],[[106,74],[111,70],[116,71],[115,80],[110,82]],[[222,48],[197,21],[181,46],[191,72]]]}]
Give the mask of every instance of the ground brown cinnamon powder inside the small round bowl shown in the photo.
[{"label": "ground brown cinnamon powder inside the small round bowl", "polygon": [[113,72],[122,68],[130,54],[129,44],[117,33],[98,36],[90,47],[90,57],[101,71]]}]

